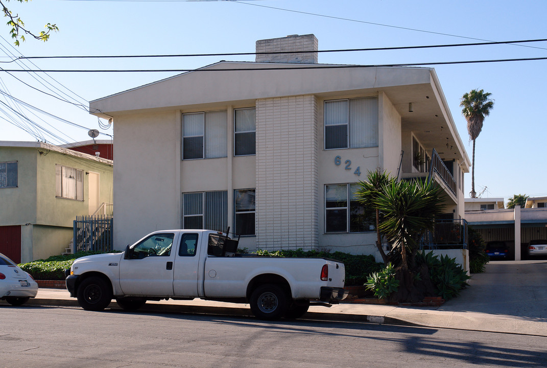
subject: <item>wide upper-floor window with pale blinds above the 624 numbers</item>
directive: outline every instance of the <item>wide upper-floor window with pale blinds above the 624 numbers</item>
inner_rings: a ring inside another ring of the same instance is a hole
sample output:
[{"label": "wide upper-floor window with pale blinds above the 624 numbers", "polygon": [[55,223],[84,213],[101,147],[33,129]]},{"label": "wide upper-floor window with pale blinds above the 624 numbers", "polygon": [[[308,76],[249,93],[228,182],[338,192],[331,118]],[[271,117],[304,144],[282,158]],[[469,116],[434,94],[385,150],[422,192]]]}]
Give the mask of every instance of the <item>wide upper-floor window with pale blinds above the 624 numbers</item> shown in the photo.
[{"label": "wide upper-floor window with pale blinds above the 624 numbers", "polygon": [[378,99],[325,101],[325,149],[378,146]]}]

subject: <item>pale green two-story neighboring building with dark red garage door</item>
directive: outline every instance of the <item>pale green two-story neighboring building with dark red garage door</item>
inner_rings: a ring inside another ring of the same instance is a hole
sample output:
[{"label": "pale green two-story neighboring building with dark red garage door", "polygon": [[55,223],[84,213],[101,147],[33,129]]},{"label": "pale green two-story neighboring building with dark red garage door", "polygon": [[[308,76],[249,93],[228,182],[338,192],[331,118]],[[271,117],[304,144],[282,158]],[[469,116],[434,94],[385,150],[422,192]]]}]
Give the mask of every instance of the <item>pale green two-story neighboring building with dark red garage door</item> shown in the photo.
[{"label": "pale green two-story neighboring building with dark red garage door", "polygon": [[0,141],[0,253],[29,262],[65,251],[73,221],[112,208],[112,160],[42,142]]}]

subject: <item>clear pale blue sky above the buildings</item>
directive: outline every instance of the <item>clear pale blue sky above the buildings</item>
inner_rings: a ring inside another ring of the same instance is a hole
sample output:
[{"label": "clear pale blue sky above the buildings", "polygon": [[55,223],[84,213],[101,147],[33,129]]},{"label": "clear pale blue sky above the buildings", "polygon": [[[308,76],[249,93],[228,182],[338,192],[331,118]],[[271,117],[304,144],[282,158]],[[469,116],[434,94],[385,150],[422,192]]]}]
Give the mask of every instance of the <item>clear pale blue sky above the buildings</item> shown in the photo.
[{"label": "clear pale blue sky above the buildings", "polygon": [[[0,61],[9,55],[158,55],[253,52],[258,39],[313,33],[319,49],[354,49],[516,41],[547,38],[544,1],[130,1],[34,0],[9,3],[30,30],[39,32],[47,22],[60,28],[43,43],[27,37],[12,47],[9,28],[0,26]],[[288,9],[279,10],[272,8]],[[313,14],[305,14],[313,13]],[[320,16],[323,15],[323,16]],[[329,18],[331,17],[331,18]],[[333,18],[334,17],[334,18]],[[411,28],[411,29],[409,29]],[[2,31],[3,29],[3,31]],[[459,37],[457,37],[459,36]],[[319,54],[319,62],[332,64],[389,64],[443,62],[547,56],[547,42],[490,45],[450,49],[359,51]],[[27,67],[42,70],[196,68],[219,60],[253,61],[254,56],[212,56],[177,59],[34,59]],[[547,60],[486,64],[431,65],[437,71],[459,134],[472,156],[459,99],[474,88],[492,93],[495,105],[476,140],[475,190],[482,197],[513,194],[547,195],[545,170],[544,99],[547,97]],[[4,69],[19,68],[15,62]],[[86,107],[87,102],[138,87],[176,73],[11,73],[53,94],[55,86]],[[83,108],[54,99],[27,87],[7,72],[0,72],[4,93],[50,114],[88,129],[100,129],[97,118]],[[42,77],[44,80],[40,79]],[[53,78],[53,79],[52,79]],[[68,90],[65,90],[68,89]],[[78,96],[75,96],[77,94]],[[15,107],[8,97],[0,100]],[[9,101],[9,102],[8,102]],[[13,125],[8,108],[0,104],[0,140],[36,141]],[[87,129],[21,110],[33,122],[57,137],[43,134],[54,144],[89,140]],[[11,113],[13,115],[14,113]],[[103,121],[104,123],[104,121]],[[18,123],[21,124],[21,123]],[[28,124],[25,124],[28,126]],[[27,128],[28,129],[28,128]],[[101,135],[99,139],[108,139]],[[465,193],[471,175],[465,176]],[[468,196],[468,194],[466,194]]]}]

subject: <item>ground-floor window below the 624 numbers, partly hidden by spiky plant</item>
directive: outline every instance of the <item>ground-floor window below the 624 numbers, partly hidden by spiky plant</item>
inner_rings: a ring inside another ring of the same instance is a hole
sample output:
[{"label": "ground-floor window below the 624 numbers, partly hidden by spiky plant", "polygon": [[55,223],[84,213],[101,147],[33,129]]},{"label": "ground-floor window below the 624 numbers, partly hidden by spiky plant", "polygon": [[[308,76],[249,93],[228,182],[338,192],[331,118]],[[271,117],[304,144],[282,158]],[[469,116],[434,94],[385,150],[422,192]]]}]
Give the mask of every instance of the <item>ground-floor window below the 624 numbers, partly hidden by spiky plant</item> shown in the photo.
[{"label": "ground-floor window below the 624 numbers, partly hidden by spiky plant", "polygon": [[325,185],[325,232],[375,230],[375,212],[358,202],[358,183]]}]

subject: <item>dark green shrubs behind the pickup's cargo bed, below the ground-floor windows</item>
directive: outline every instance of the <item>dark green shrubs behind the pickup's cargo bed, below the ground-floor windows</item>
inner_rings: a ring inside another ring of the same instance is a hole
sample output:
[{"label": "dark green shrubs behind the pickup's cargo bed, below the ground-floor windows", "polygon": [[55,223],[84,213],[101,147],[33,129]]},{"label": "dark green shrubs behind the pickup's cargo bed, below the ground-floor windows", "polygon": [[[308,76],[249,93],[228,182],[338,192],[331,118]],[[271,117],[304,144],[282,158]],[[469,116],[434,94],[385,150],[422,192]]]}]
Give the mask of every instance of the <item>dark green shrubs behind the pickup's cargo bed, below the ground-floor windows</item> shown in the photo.
[{"label": "dark green shrubs behind the pickup's cargo bed, below the ground-floor windows", "polygon": [[330,258],[344,263],[346,269],[346,285],[363,285],[373,272],[382,269],[383,263],[375,261],[371,255],[353,255],[344,252],[327,252],[310,250],[277,250],[270,252],[267,250],[257,250],[258,255],[272,257],[312,257],[312,258]]}]

